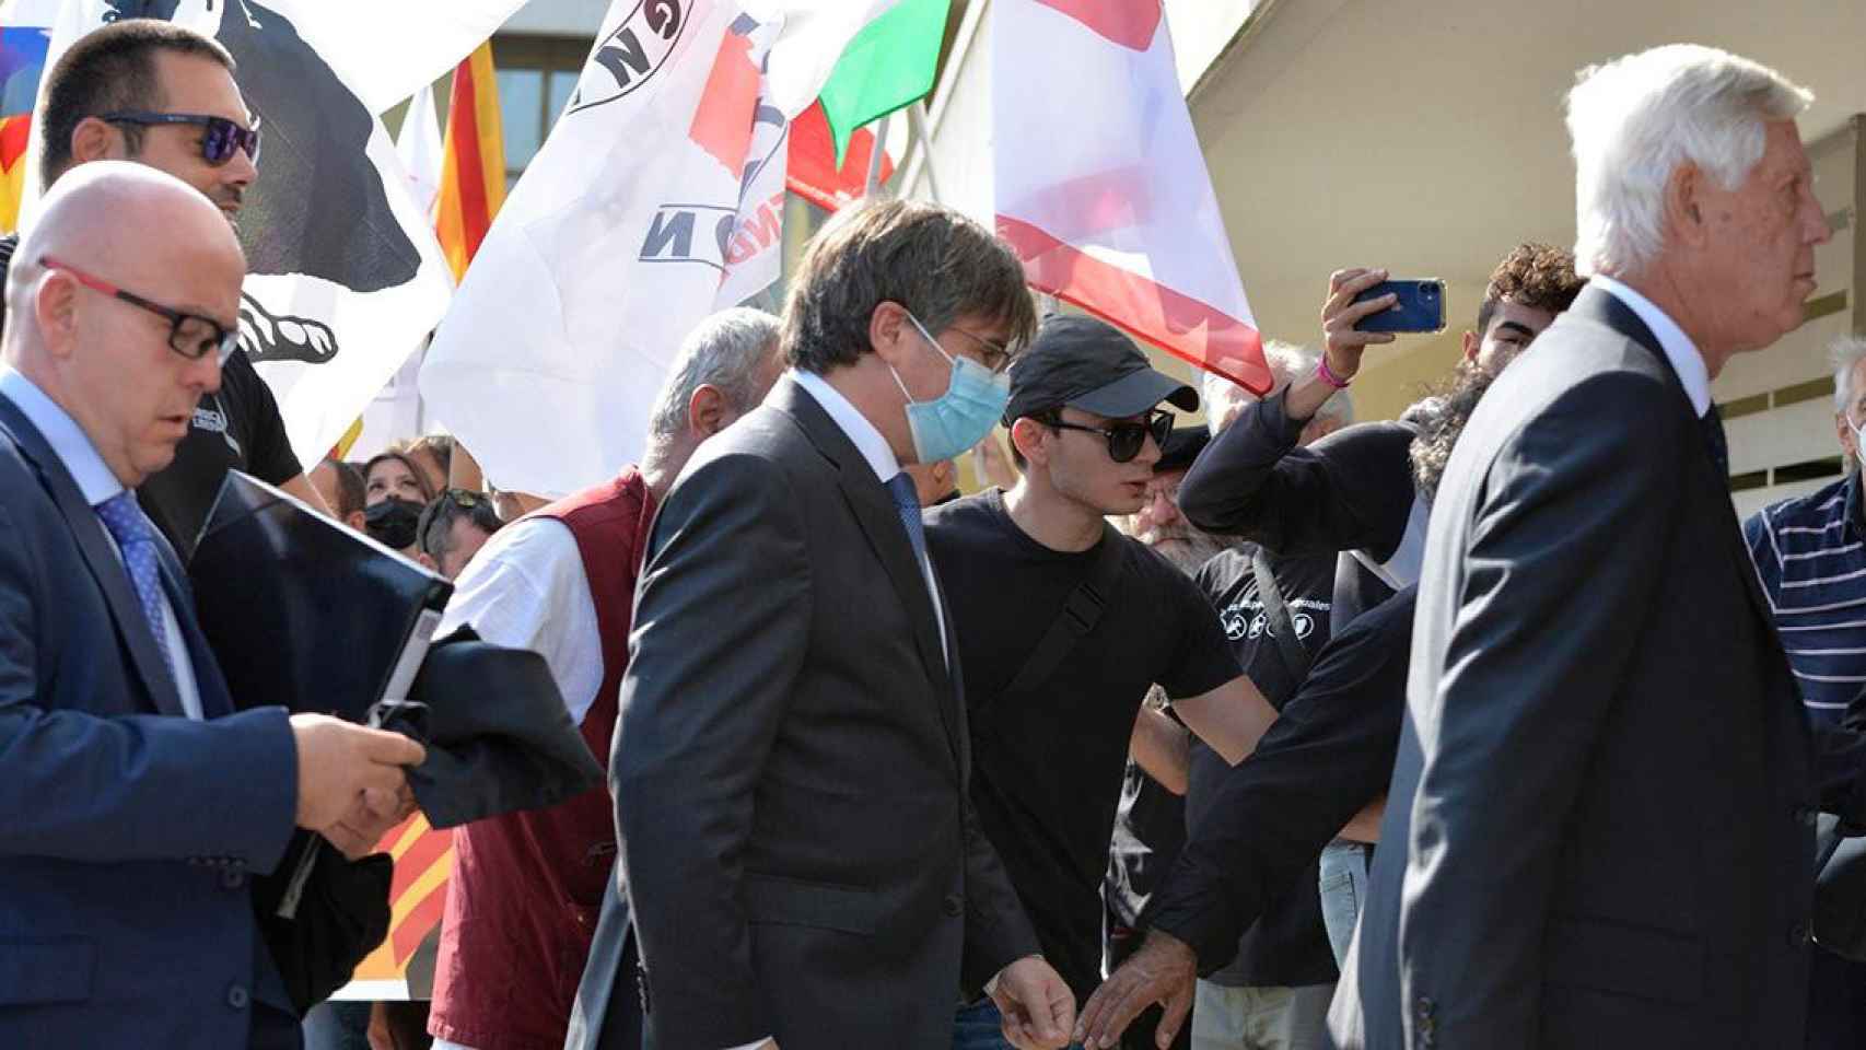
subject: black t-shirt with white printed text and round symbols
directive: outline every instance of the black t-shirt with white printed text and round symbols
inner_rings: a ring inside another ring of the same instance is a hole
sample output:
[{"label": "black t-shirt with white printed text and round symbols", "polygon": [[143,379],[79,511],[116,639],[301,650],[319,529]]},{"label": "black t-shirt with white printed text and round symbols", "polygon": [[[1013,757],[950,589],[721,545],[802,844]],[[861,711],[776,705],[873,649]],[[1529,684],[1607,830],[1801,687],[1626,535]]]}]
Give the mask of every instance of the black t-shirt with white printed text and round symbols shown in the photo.
[{"label": "black t-shirt with white printed text and round symbols", "polygon": [[[1218,610],[1218,627],[1224,629],[1237,664],[1245,668],[1271,707],[1282,711],[1284,703],[1295,696],[1301,679],[1291,671],[1289,660],[1282,656],[1271,632],[1269,614],[1258,595],[1258,576],[1250,571],[1252,550],[1256,550],[1252,543],[1226,550],[1205,561],[1192,574],[1192,580]],[[1284,604],[1289,606],[1297,643],[1304,651],[1302,664],[1308,664],[1329,642],[1332,627],[1334,556],[1271,556],[1271,573],[1276,576]],[[1191,757],[1192,776],[1185,793],[1187,826],[1204,819],[1205,811],[1211,809],[1217,787],[1232,768],[1218,752],[1196,737]],[[1319,871],[1310,863],[1308,878],[1291,886],[1265,908],[1263,916],[1237,942],[1237,957],[1205,979],[1228,988],[1301,987],[1334,981],[1338,974],[1334,951],[1329,947],[1329,931],[1321,921],[1317,875]]]}]

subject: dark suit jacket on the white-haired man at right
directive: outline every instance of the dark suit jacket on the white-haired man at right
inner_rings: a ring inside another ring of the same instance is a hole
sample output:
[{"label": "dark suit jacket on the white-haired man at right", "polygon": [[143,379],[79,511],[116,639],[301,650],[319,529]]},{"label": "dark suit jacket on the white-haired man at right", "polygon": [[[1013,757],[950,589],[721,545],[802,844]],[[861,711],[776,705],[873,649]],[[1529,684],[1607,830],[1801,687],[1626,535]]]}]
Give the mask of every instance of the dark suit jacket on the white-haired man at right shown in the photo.
[{"label": "dark suit jacket on the white-haired man at right", "polygon": [[1342,1046],[1801,1046],[1810,740],[1726,479],[1599,287],[1439,489]]}]

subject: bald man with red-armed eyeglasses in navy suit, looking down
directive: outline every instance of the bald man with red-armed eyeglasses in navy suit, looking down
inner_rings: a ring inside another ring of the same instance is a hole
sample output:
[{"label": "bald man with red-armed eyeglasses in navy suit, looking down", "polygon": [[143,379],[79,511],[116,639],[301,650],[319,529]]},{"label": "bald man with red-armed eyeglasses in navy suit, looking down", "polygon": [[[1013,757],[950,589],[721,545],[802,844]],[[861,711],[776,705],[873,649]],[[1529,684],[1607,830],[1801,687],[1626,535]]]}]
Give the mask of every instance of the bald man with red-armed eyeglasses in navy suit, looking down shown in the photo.
[{"label": "bald man with red-armed eyeglasses in navy suit, looking down", "polygon": [[220,362],[244,261],[207,200],[99,162],[45,198],[0,338],[0,1046],[297,1046],[250,878],[360,856],[420,744],[237,711],[136,487]]}]

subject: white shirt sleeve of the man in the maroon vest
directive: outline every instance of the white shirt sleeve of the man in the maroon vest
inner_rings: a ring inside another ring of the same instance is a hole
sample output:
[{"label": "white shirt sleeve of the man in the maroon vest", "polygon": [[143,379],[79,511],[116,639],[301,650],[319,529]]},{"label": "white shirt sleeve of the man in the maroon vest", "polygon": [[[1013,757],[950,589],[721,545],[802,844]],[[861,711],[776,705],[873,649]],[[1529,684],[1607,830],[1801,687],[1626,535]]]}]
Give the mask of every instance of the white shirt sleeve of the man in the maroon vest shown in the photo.
[{"label": "white shirt sleeve of the man in the maroon vest", "polygon": [[493,533],[453,582],[435,638],[463,625],[493,645],[543,656],[571,720],[582,724],[603,686],[603,634],[569,526],[534,517]]}]

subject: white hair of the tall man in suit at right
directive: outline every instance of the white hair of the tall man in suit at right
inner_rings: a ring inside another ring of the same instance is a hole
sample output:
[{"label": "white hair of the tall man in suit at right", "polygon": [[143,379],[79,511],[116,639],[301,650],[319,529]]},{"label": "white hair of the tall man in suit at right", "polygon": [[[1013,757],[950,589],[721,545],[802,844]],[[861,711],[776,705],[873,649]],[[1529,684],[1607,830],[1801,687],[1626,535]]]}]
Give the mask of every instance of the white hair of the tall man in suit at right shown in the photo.
[{"label": "white hair of the tall man in suit at right", "polygon": [[1575,155],[1575,272],[1638,276],[1664,237],[1664,187],[1694,164],[1735,190],[1762,160],[1765,121],[1814,93],[1767,65],[1674,43],[1590,65],[1567,93]]}]

